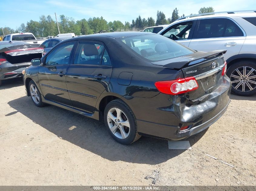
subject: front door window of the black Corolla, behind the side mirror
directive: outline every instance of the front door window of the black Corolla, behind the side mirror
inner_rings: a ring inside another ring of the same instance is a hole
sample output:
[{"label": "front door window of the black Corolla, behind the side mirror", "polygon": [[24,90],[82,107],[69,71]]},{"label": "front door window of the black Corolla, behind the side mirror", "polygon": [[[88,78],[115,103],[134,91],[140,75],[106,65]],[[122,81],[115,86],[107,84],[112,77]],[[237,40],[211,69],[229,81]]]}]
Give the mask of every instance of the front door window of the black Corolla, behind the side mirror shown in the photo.
[{"label": "front door window of the black Corolla, behind the side mirror", "polygon": [[63,44],[54,49],[47,57],[45,65],[69,64],[74,43]]}]

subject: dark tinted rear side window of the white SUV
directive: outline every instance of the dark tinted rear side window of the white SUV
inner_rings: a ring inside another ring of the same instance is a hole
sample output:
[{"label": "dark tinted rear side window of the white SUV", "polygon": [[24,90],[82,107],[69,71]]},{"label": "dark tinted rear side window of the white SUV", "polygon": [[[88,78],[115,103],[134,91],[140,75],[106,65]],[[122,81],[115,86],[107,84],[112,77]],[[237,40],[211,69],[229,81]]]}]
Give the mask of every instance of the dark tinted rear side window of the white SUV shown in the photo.
[{"label": "dark tinted rear side window of the white SUV", "polygon": [[199,21],[198,31],[193,37],[194,39],[244,36],[238,25],[230,19],[211,18],[200,19]]}]

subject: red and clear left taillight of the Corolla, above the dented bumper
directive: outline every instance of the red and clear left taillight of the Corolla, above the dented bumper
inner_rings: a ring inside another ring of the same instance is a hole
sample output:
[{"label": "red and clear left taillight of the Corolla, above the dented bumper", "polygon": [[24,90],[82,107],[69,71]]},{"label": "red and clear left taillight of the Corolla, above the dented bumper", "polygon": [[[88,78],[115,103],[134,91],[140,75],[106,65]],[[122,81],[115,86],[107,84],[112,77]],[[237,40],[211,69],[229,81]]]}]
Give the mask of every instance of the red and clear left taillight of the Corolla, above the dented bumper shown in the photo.
[{"label": "red and clear left taillight of the Corolla, above the dented bumper", "polygon": [[178,80],[157,81],[155,87],[163,94],[177,95],[196,90],[198,83],[194,77]]}]

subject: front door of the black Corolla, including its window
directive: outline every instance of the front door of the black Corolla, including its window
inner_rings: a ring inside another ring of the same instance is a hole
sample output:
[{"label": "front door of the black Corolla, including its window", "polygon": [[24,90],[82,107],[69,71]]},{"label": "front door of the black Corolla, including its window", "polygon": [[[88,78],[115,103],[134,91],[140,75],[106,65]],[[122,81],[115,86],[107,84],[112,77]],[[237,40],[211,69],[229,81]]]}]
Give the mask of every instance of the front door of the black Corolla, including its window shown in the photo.
[{"label": "front door of the black Corolla, including its window", "polygon": [[42,60],[38,69],[38,81],[45,99],[72,107],[67,85],[66,73],[71,62],[75,42],[67,42],[55,47]]}]

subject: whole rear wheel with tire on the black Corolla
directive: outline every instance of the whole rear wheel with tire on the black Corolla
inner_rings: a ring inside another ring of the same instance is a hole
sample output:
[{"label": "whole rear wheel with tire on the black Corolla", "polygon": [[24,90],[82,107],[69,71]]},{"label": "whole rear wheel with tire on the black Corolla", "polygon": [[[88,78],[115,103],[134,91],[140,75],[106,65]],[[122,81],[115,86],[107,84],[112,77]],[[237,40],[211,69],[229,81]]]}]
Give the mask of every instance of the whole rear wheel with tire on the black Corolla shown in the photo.
[{"label": "whole rear wheel with tire on the black Corolla", "polygon": [[137,122],[131,108],[122,100],[116,99],[107,104],[104,110],[105,126],[117,142],[129,145],[137,141]]}]

